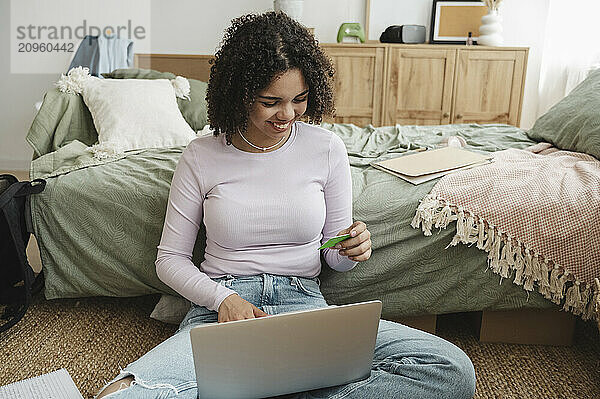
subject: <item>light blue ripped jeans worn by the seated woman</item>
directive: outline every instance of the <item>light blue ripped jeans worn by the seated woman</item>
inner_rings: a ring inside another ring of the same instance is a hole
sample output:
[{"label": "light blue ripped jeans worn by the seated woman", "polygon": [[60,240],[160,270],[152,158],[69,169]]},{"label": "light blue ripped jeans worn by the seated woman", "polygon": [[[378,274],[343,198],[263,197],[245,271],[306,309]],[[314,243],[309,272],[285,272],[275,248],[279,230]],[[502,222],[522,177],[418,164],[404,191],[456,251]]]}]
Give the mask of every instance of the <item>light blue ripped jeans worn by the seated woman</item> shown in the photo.
[{"label": "light blue ripped jeans worn by the seated woman", "polygon": [[[262,274],[216,281],[268,314],[327,306],[317,279]],[[179,330],[113,380],[134,376],[131,386],[107,398],[196,399],[196,374],[189,330],[214,323],[217,313],[192,305]],[[381,320],[371,376],[347,385],[316,389],[294,398],[471,398],[475,371],[467,355],[439,337]]]}]

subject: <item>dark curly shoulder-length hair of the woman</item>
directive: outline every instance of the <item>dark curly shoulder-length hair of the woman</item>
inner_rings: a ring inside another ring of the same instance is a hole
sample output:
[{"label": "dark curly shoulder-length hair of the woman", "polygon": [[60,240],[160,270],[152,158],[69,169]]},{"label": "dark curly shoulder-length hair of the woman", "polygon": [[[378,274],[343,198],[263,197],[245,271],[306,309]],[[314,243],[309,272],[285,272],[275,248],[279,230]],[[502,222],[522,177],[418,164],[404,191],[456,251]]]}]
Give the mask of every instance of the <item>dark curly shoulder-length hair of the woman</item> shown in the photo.
[{"label": "dark curly shoulder-length hair of the woman", "polygon": [[248,127],[257,94],[273,78],[298,68],[308,85],[305,115],[311,123],[335,112],[334,68],[315,37],[282,12],[243,15],[231,21],[210,68],[208,122],[227,144]]}]

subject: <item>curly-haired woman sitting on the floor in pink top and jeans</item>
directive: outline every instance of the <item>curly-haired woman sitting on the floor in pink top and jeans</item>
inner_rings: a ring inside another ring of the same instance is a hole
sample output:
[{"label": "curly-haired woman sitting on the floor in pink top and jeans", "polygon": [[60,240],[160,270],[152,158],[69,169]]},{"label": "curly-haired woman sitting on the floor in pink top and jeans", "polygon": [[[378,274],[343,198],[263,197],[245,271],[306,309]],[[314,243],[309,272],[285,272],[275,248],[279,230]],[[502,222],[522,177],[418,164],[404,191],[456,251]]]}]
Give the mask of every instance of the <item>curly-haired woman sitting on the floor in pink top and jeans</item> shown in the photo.
[{"label": "curly-haired woman sitting on the floor in pink top and jeans", "polygon": [[[158,276],[191,309],[174,336],[99,397],[196,398],[192,327],[326,307],[320,255],[340,272],[369,259],[371,234],[352,221],[344,143],[300,121],[333,114],[333,74],[314,37],[285,14],[232,21],[206,95],[214,136],[192,141],[179,160],[156,260]],[[202,223],[206,251],[197,267],[192,250]],[[381,320],[370,377],[294,397],[459,399],[474,390],[473,365],[459,348]]]}]

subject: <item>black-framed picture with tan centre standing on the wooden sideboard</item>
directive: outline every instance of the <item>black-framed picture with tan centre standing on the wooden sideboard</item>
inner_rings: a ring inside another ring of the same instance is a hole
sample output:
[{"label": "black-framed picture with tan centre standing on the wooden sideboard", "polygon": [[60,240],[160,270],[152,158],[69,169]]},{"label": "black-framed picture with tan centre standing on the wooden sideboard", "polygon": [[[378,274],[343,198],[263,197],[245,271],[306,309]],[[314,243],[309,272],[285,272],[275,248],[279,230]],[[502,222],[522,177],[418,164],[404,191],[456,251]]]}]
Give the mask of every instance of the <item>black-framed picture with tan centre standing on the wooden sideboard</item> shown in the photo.
[{"label": "black-framed picture with tan centre standing on the wooden sideboard", "polygon": [[481,1],[433,0],[429,43],[465,44],[469,32],[476,43],[481,17],[487,12]]}]

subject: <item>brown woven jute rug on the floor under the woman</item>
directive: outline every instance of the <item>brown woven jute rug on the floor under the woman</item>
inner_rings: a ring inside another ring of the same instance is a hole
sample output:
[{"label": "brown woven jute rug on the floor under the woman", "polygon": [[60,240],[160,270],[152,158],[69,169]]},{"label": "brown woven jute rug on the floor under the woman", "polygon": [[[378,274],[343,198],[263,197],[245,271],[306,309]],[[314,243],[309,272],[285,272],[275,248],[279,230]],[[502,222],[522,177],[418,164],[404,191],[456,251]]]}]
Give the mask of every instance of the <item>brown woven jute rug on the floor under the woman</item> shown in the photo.
[{"label": "brown woven jute rug on the floor under the woman", "polygon": [[[25,318],[0,335],[0,385],[66,368],[92,398],[120,368],[175,332],[148,317],[157,301],[37,296]],[[552,347],[480,343],[461,315],[438,320],[438,335],[475,365],[476,398],[600,398],[600,338],[592,323],[578,321],[573,346]]]}]

